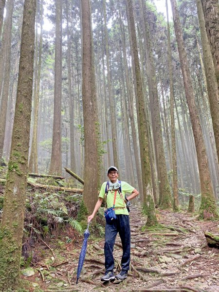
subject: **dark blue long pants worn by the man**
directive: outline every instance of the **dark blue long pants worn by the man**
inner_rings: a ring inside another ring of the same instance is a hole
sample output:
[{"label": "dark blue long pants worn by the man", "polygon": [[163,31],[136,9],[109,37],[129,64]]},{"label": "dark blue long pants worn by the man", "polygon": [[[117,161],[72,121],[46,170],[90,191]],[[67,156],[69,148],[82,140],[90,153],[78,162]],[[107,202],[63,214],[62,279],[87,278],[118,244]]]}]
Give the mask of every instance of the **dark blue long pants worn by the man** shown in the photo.
[{"label": "dark blue long pants worn by the man", "polygon": [[113,247],[117,233],[122,241],[123,256],[121,261],[122,270],[128,272],[130,264],[130,225],[128,215],[116,215],[116,219],[106,223],[105,227],[105,269],[112,271],[114,269]]}]

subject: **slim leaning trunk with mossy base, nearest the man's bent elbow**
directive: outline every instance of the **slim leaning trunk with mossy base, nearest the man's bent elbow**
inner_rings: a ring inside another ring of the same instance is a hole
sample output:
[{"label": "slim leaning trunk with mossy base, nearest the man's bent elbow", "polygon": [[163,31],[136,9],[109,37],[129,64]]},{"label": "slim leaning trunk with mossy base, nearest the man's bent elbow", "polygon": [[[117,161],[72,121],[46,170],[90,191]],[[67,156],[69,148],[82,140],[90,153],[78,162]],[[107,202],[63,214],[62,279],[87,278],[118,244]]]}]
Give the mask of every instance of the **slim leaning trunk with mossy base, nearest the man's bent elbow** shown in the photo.
[{"label": "slim leaning trunk with mossy base, nearest the man's bent elbow", "polygon": [[143,194],[144,194],[144,209],[147,214],[147,225],[151,226],[157,223],[154,198],[152,192],[152,183],[151,183],[151,173],[150,173],[150,162],[149,162],[149,153],[148,153],[148,139],[147,139],[147,130],[146,130],[146,115],[145,115],[145,101],[143,96],[142,88],[142,78],[141,70],[138,57],[137,49],[137,40],[135,33],[135,22],[133,16],[133,8],[131,0],[126,0],[127,10],[129,15],[130,23],[130,35],[132,40],[132,49],[134,56],[136,83],[137,83],[137,108],[139,112],[138,131],[139,131],[139,142],[140,142],[140,155],[142,161],[142,178],[143,178]]}]

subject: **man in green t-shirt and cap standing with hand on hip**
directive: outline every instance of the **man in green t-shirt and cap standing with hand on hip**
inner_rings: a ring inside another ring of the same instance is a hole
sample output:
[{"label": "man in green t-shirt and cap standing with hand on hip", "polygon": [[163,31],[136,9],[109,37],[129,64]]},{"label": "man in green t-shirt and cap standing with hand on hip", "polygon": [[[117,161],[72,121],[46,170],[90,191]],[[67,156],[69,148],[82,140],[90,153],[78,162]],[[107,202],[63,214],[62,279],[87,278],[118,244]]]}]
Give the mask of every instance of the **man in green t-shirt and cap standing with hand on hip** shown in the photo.
[{"label": "man in green t-shirt and cap standing with hand on hip", "polygon": [[[105,255],[105,269],[106,273],[101,278],[101,281],[114,280],[115,277],[118,280],[124,280],[127,278],[129,264],[130,264],[130,225],[129,225],[129,215],[126,206],[126,202],[134,199],[138,196],[139,192],[126,182],[119,182],[118,176],[119,172],[115,166],[110,166],[107,171],[109,182],[105,182],[101,186],[99,193],[99,199],[96,202],[93,213],[88,217],[88,221],[91,221],[97,211],[99,210],[103,199],[105,198],[107,203],[107,208],[113,206],[115,197],[115,214],[116,219],[111,220],[110,223],[106,222],[105,227],[105,245],[104,245],[104,255]],[[121,191],[120,191],[121,190]],[[125,194],[131,194],[125,199]],[[123,256],[121,260],[122,271],[114,276],[114,258],[113,258],[113,247],[115,243],[115,238],[117,233],[122,241],[123,246]]]}]

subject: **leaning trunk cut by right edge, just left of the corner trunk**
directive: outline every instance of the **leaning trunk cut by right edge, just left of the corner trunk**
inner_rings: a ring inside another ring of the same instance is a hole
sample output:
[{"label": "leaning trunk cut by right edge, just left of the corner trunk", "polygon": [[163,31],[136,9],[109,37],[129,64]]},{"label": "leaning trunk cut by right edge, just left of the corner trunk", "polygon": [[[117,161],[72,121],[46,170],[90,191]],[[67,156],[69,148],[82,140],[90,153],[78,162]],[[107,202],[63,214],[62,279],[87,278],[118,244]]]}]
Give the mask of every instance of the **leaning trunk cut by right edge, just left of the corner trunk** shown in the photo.
[{"label": "leaning trunk cut by right edge, just left of the corner trunk", "polygon": [[[204,70],[206,75],[207,82],[207,91],[208,99],[211,111],[212,125],[215,134],[215,144],[218,153],[219,161],[219,87],[217,84],[217,79],[215,75],[215,67],[211,54],[211,48],[208,42],[207,33],[205,29],[205,20],[204,14],[201,6],[201,0],[196,0],[198,17],[199,17],[199,26],[201,32],[201,43],[203,48],[203,57],[204,57]],[[218,4],[219,5],[219,4]],[[218,15],[219,17],[219,15]],[[219,29],[219,26],[218,26]],[[219,32],[218,32],[219,37]],[[219,47],[218,47],[219,51]]]}]

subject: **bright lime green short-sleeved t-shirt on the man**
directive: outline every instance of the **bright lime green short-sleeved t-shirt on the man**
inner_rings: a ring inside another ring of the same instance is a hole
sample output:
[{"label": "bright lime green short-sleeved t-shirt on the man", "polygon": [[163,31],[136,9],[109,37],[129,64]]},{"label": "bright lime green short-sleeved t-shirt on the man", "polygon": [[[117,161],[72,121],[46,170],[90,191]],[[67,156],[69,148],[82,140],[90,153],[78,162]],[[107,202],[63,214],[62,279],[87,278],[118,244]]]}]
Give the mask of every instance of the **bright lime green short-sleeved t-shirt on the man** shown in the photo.
[{"label": "bright lime green short-sleeved t-shirt on the man", "polygon": [[[105,198],[105,189],[106,189],[107,182],[103,183],[101,186],[101,190],[99,193],[99,197],[104,199]],[[115,201],[115,214],[120,215],[128,215],[128,210],[126,208],[125,200],[125,194],[131,194],[133,190],[135,189],[133,186],[126,182],[121,182],[121,189],[122,189],[122,198],[119,194],[119,191],[116,192],[116,201]],[[107,208],[111,208],[113,206],[114,201],[114,194],[115,191],[109,191],[107,195]],[[124,209],[116,209],[118,207],[125,207]]]}]

